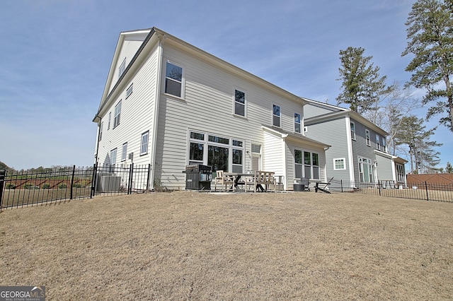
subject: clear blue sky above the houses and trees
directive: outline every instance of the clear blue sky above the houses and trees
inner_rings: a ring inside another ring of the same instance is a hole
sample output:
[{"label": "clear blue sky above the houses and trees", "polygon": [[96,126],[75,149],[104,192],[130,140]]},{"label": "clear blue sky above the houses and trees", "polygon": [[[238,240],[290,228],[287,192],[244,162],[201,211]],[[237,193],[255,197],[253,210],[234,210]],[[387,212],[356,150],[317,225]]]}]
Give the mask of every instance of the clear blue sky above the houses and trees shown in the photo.
[{"label": "clear blue sky above the houses and trees", "polygon": [[[2,1],[0,161],[16,169],[93,164],[91,120],[121,31],[156,26],[293,94],[336,105],[340,49],[365,48],[389,84],[408,81],[411,58],[401,52],[414,1]],[[453,163],[453,134],[440,126],[433,140],[444,143],[439,167]]]}]

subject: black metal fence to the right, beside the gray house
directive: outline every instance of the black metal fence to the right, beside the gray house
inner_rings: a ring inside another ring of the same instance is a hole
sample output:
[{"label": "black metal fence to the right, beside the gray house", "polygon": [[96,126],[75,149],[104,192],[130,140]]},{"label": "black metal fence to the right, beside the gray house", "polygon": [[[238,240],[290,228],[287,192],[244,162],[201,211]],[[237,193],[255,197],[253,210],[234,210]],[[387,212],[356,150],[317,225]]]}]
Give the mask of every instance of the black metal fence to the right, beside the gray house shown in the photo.
[{"label": "black metal fence to the right, beside the gray house", "polygon": [[376,183],[357,183],[332,179],[330,191],[389,196],[403,199],[453,202],[453,183],[413,182],[410,184],[379,181]]}]

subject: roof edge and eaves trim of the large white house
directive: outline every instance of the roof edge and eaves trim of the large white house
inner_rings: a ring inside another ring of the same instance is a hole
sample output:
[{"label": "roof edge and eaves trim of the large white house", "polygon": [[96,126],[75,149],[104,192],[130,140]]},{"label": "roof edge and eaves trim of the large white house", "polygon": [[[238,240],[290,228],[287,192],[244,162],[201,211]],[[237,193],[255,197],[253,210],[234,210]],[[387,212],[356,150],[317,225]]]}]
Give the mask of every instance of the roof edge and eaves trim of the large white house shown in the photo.
[{"label": "roof edge and eaves trim of the large white house", "polygon": [[[125,71],[122,73],[122,76],[118,78],[115,86],[110,90],[110,85],[113,83],[113,75],[115,73],[115,64],[118,59],[118,56],[120,54],[120,51],[122,49],[122,45],[125,41],[125,37],[127,35],[144,35],[144,40],[142,45],[139,47],[137,53],[134,55],[132,60],[130,61],[129,64],[127,64]],[[103,110],[105,110],[105,107],[109,103],[109,100],[111,98],[111,95],[114,95],[116,90],[119,89],[119,87],[122,85],[125,85],[125,79],[132,77],[130,74],[133,73],[131,72],[131,69],[138,69],[140,64],[134,64],[137,61],[141,61],[144,59],[149,51],[151,50],[151,47],[156,45],[158,42],[165,42],[166,44],[172,45],[173,47],[176,47],[178,49],[181,49],[184,52],[187,52],[194,57],[197,57],[197,59],[202,59],[203,61],[207,61],[209,64],[212,64],[213,66],[218,67],[219,69],[222,69],[226,72],[233,73],[236,76],[239,76],[241,78],[244,78],[247,81],[250,81],[251,83],[254,83],[256,85],[260,85],[262,88],[265,88],[266,90],[272,91],[273,93],[277,93],[279,95],[283,95],[285,98],[289,98],[294,100],[295,102],[299,102],[301,105],[306,104],[306,100],[304,98],[301,98],[297,95],[294,95],[292,93],[289,93],[287,90],[284,90],[277,85],[274,85],[273,83],[270,83],[268,81],[265,81],[263,78],[260,78],[256,75],[253,75],[252,73],[245,71],[238,66],[234,66],[233,64],[228,63],[227,61],[224,61],[223,59],[219,59],[218,57],[215,57],[214,55],[205,52],[204,50],[197,48],[193,45],[190,45],[188,42],[185,42],[183,40],[178,39],[178,37],[174,37],[173,35],[170,35],[163,30],[160,30],[159,28],[149,28],[149,29],[144,29],[144,30],[132,30],[132,31],[127,31],[127,32],[122,32],[120,33],[120,37],[118,38],[117,45],[115,48],[115,54],[113,54],[113,60],[112,63],[110,64],[110,70],[108,72],[108,77],[107,81],[105,83],[105,88],[103,91],[103,95],[101,98],[101,103],[98,108],[98,112],[96,113],[95,117],[93,118],[93,122],[98,122],[100,120],[100,114],[103,113]]]}]

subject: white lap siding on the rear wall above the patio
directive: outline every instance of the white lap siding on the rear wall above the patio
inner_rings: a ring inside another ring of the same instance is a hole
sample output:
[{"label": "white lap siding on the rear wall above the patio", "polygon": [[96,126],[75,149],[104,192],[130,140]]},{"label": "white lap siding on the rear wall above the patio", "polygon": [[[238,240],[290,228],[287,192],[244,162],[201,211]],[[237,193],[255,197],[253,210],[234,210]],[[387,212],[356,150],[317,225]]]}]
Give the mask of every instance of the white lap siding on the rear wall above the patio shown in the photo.
[{"label": "white lap siding on the rear wall above the patio", "polygon": [[[261,125],[271,126],[272,107],[275,103],[281,107],[282,128],[294,131],[294,112],[302,114],[299,102],[271,93],[164,45],[163,65],[167,59],[184,69],[185,97],[181,100],[161,94],[156,179],[160,178],[169,189],[185,187],[185,174],[182,171],[188,163],[188,129],[245,141],[245,151],[250,151],[251,141],[260,143],[263,146],[262,169],[283,170],[281,139],[280,146],[273,143],[268,145],[268,141],[263,139]],[[161,85],[164,87],[163,80]],[[233,114],[235,89],[246,93],[246,118]],[[278,151],[279,155],[268,157],[266,154],[270,153],[270,148]],[[251,158],[244,155],[244,160],[245,172],[251,165]]]}]

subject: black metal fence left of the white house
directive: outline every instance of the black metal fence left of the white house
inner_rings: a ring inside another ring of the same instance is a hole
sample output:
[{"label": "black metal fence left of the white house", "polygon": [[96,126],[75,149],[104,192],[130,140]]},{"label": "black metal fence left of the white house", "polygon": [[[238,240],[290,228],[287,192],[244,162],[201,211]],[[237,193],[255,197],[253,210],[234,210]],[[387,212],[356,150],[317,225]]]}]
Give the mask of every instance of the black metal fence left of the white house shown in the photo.
[{"label": "black metal fence left of the white house", "polygon": [[149,189],[150,165],[96,166],[12,172],[0,170],[0,209],[33,206],[98,194]]}]

